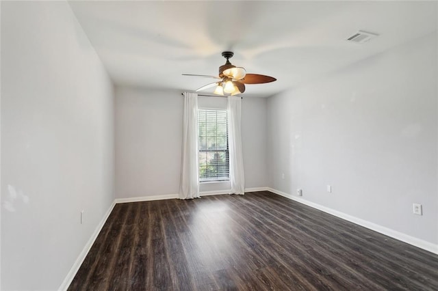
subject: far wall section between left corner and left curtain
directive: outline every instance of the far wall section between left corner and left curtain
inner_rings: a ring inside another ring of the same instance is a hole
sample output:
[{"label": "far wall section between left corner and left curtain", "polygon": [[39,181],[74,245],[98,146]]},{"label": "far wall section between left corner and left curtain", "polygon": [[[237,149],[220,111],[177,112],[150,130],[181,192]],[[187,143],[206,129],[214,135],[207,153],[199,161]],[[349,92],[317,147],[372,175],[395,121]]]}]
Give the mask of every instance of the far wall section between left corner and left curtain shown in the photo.
[{"label": "far wall section between left corner and left curtain", "polygon": [[116,197],[179,190],[181,92],[116,87]]}]

